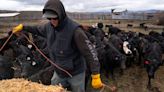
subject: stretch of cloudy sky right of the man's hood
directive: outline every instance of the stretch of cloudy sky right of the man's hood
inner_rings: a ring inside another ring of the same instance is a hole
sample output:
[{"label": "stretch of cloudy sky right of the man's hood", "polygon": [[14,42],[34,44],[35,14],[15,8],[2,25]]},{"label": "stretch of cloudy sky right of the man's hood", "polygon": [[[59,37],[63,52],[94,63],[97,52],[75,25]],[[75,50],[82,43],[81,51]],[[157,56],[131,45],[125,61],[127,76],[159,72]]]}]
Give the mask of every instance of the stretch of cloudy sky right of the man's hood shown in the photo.
[{"label": "stretch of cloudy sky right of the man's hood", "polygon": [[61,0],[67,11],[110,11],[112,8],[128,10],[164,10],[164,0]]}]

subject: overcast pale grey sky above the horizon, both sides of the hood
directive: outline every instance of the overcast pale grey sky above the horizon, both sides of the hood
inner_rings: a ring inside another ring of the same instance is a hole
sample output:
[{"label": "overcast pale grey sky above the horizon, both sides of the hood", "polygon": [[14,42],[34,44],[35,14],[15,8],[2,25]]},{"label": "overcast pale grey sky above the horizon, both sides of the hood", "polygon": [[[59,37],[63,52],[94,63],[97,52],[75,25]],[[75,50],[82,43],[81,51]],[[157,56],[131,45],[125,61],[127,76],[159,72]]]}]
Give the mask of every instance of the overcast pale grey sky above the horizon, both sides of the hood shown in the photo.
[{"label": "overcast pale grey sky above the horizon, both sides of the hood", "polygon": [[[1,0],[0,10],[42,10],[47,0]],[[164,0],[61,0],[69,12],[164,10]]]}]

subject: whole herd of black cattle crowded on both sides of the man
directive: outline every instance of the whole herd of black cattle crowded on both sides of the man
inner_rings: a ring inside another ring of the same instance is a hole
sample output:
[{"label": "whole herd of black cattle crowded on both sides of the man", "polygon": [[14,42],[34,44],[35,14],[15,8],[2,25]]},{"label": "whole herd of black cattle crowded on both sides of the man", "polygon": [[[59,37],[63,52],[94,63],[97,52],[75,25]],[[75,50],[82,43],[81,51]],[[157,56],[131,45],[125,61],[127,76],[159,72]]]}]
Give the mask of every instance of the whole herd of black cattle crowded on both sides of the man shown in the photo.
[{"label": "whole herd of black cattle crowded on both sides of the man", "polygon": [[[144,66],[148,74],[148,88],[151,88],[151,79],[163,64],[164,33],[151,31],[147,35],[132,31],[124,32],[112,25],[105,27],[108,27],[108,33],[102,30],[102,23],[98,23],[97,27],[81,26],[97,50],[102,73],[107,78],[111,76],[115,79],[114,75],[118,72],[115,71],[116,68],[121,74],[126,74],[124,70],[132,65]],[[48,56],[44,38],[29,33],[24,34]],[[0,48],[7,38],[0,39]],[[49,85],[54,68],[46,61],[23,35],[14,34],[0,50],[0,80],[24,77]]]}]

